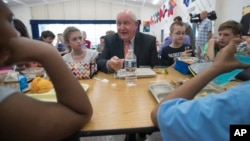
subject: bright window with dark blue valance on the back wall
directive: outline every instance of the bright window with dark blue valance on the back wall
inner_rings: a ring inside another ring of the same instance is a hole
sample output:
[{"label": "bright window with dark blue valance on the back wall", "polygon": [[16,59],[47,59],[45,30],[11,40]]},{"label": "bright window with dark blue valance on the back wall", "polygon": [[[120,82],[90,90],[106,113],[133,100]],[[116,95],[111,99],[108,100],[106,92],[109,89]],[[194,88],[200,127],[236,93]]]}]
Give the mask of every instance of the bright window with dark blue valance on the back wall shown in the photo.
[{"label": "bright window with dark blue valance on the back wall", "polygon": [[[106,35],[106,31],[116,29],[115,20],[31,20],[33,39],[39,39],[42,31],[50,30],[55,35],[63,33],[68,26],[75,26],[80,31],[86,31],[87,39],[91,41],[91,46],[95,47],[99,42],[99,38]],[[56,43],[56,38],[53,44]]]}]

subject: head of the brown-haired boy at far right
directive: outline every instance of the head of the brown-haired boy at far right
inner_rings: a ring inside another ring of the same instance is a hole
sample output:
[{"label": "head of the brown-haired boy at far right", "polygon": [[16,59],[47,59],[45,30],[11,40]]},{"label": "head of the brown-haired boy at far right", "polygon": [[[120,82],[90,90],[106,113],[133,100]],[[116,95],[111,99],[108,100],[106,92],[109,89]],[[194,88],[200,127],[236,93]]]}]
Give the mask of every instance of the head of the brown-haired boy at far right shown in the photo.
[{"label": "head of the brown-haired boy at far right", "polygon": [[241,24],[234,21],[229,20],[222,23],[218,29],[218,43],[219,46],[225,47],[229,44],[230,40],[235,37],[240,37],[241,34]]}]

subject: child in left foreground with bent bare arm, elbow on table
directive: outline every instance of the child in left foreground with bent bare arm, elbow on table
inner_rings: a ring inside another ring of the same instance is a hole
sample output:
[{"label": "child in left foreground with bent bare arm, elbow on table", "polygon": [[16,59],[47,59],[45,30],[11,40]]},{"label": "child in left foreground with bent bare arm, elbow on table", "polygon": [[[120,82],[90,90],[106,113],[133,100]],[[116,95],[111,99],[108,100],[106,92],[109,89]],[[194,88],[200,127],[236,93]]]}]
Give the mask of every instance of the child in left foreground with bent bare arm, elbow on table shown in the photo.
[{"label": "child in left foreground with bent bare arm, elbow on table", "polygon": [[13,19],[1,0],[0,66],[25,61],[41,63],[54,85],[58,103],[41,102],[0,86],[0,140],[63,140],[89,121],[92,106],[88,96],[58,51],[47,43],[18,37]]}]

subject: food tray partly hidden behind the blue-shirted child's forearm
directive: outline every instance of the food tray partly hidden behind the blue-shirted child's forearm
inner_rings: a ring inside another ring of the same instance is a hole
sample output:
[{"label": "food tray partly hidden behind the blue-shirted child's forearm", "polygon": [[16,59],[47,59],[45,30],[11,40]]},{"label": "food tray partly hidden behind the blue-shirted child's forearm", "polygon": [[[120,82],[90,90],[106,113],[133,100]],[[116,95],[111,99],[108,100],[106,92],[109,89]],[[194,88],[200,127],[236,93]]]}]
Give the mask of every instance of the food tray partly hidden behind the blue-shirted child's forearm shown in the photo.
[{"label": "food tray partly hidden behind the blue-shirted child's forearm", "polygon": [[[163,82],[163,83],[152,83],[148,86],[149,91],[155,98],[155,100],[160,103],[161,100],[170,92],[172,92],[175,89],[175,86],[173,86],[169,82]],[[221,93],[221,90],[213,86],[212,84],[208,84],[206,87],[204,87],[194,98],[204,97],[207,94],[218,94]]]}]

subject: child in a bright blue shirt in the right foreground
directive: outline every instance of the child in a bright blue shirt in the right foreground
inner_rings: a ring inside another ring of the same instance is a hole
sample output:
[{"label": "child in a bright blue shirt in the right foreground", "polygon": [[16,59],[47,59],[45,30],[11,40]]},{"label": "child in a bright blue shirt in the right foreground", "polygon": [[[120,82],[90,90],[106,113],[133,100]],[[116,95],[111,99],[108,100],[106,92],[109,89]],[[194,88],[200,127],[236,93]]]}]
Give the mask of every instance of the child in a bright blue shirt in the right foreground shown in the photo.
[{"label": "child in a bright blue shirt in the right foreground", "polygon": [[234,69],[250,68],[234,57],[234,38],[216,55],[213,64],[168,94],[151,113],[165,141],[226,141],[230,125],[250,124],[250,83],[242,82],[221,94],[193,99],[216,76]]}]

